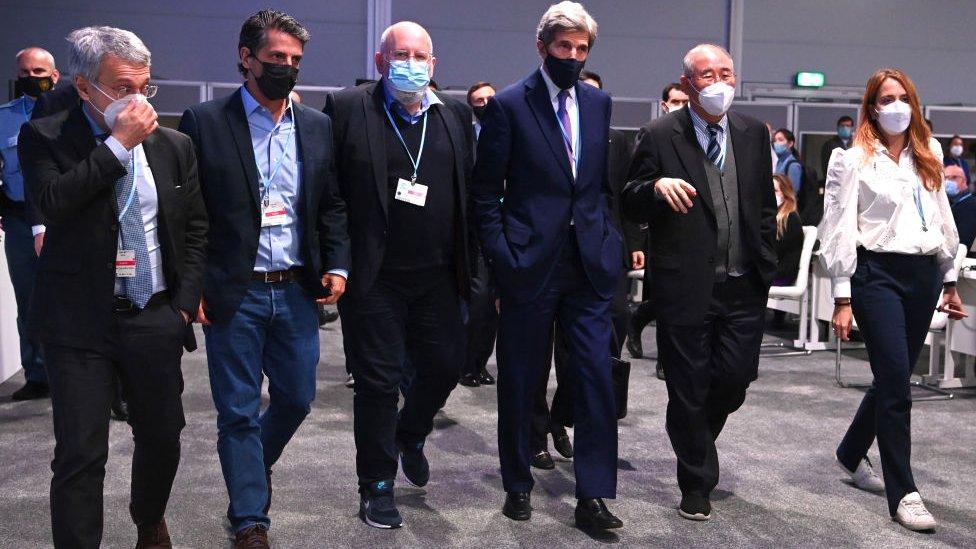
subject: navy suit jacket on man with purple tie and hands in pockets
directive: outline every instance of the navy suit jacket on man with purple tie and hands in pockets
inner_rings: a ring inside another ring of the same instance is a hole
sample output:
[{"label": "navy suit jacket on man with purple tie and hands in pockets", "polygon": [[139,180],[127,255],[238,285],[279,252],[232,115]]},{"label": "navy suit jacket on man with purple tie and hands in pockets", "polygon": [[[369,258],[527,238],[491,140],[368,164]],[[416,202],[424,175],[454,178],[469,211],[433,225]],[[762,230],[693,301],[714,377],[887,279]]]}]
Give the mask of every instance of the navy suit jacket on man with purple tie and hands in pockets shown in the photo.
[{"label": "navy suit jacket on man with purple tie and hands in pockets", "polygon": [[613,226],[607,176],[610,98],[587,84],[575,89],[581,138],[575,181],[540,70],[492,97],[481,121],[471,194],[498,286],[517,301],[545,287],[570,220],[597,294],[610,299],[620,282],[624,246]]}]

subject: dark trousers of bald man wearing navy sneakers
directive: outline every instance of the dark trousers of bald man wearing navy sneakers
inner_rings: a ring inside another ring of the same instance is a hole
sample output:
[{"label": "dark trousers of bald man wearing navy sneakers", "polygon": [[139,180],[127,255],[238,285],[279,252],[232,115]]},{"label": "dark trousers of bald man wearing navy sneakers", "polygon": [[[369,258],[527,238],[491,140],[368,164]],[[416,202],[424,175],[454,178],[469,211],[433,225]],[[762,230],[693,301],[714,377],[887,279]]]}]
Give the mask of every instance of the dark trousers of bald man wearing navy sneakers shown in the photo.
[{"label": "dark trousers of bald man wearing navy sneakers", "polygon": [[[393,480],[397,442],[424,441],[434,415],[457,385],[464,326],[450,268],[381,272],[363,297],[340,301],[353,397],[356,473],[360,487]],[[413,380],[397,414],[404,362]]]}]

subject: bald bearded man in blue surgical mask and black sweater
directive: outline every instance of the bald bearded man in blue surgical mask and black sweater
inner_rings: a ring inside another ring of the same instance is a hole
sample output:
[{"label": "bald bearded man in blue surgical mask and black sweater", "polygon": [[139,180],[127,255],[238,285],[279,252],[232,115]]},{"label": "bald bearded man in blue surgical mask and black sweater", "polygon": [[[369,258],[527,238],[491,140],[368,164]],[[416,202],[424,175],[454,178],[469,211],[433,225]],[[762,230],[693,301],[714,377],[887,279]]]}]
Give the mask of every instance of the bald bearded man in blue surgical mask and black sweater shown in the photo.
[{"label": "bald bearded man in blue surgical mask and black sweater", "polygon": [[380,81],[330,95],[325,106],[350,212],[352,270],[339,312],[356,379],[360,518],[376,528],[402,524],[393,498],[398,457],[408,482],[427,484],[424,441],[464,357],[471,109],[430,89],[431,50],[420,25],[392,25],[374,56]]}]

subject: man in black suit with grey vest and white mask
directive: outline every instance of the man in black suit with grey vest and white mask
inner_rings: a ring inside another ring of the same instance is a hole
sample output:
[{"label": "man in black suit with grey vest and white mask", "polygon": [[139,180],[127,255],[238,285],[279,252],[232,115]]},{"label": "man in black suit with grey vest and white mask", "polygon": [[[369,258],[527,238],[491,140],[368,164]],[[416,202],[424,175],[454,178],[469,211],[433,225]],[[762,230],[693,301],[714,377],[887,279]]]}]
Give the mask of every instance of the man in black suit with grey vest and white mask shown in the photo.
[{"label": "man in black suit with grey vest and white mask", "polygon": [[645,127],[623,205],[625,215],[648,224],[679,512],[706,520],[718,483],[715,439],[757,375],[776,272],[776,198],[769,132],[728,113],[735,93],[729,54],[702,44],[684,66],[689,108]]}]

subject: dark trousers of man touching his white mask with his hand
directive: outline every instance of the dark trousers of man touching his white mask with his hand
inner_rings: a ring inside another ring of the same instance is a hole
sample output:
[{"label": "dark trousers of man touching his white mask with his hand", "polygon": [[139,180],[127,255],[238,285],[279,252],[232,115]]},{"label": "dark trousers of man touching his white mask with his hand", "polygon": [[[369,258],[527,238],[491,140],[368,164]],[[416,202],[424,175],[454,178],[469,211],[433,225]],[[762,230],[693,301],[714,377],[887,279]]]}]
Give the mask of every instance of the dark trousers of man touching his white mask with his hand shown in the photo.
[{"label": "dark trousers of man touching his white mask with his hand", "polygon": [[103,351],[45,345],[54,409],[51,526],[55,547],[98,547],[108,459],[109,406],[121,380],[132,426],[129,512],[154,524],[166,511],[180,462],[183,335],[168,299],[116,313]]}]

